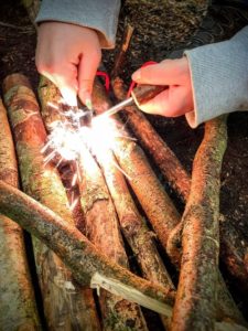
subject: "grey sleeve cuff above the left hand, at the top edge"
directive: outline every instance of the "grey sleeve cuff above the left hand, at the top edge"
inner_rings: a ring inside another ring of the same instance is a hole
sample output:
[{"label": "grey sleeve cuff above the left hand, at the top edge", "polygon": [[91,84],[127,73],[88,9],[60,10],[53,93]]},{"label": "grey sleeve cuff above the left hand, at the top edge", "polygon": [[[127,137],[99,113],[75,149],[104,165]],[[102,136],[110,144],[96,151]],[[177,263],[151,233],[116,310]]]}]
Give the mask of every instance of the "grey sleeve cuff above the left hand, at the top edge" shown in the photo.
[{"label": "grey sleeve cuff above the left hand, at the top edge", "polygon": [[103,49],[115,46],[120,0],[43,0],[36,23],[58,21],[94,29]]}]

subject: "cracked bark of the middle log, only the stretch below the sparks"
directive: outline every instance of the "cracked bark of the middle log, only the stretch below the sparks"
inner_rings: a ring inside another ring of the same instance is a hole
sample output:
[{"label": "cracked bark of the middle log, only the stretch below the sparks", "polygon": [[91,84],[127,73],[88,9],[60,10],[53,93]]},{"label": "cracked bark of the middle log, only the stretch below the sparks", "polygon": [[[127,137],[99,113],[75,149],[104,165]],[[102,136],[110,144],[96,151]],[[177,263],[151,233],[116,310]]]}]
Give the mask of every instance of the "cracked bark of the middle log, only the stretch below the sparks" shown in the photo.
[{"label": "cracked bark of the middle log, only the stretch below the sparks", "polygon": [[[115,206],[100,169],[90,152],[82,146],[79,160],[80,203],[86,218],[86,236],[106,256],[128,268],[128,259],[119,232]],[[105,330],[147,330],[145,321],[137,305],[100,292],[100,307]]]}]

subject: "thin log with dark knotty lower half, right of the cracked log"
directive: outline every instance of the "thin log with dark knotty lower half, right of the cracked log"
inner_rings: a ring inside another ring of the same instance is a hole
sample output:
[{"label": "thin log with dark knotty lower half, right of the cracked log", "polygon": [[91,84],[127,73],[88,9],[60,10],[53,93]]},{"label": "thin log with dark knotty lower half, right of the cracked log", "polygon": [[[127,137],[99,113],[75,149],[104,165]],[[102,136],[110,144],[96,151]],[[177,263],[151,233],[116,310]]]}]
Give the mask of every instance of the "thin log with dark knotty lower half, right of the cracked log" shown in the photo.
[{"label": "thin log with dark knotty lower half, right of the cracked log", "polygon": [[[104,170],[108,190],[119,217],[121,232],[139,263],[142,276],[154,284],[173,290],[172,280],[154,244],[154,234],[148,228],[145,221],[137,210],[123,174],[117,168],[117,160],[112,152],[105,150],[104,153],[97,153],[97,159]],[[161,317],[161,319],[168,328],[170,320],[164,319],[164,317]]]}]

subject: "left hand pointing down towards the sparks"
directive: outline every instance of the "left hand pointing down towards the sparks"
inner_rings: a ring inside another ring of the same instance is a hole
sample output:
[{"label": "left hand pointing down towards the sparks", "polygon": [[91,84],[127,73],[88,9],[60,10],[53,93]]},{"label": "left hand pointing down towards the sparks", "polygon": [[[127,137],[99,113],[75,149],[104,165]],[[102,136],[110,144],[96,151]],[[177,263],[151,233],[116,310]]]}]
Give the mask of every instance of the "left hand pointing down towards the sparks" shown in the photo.
[{"label": "left hand pointing down towards the sparks", "polygon": [[88,28],[44,22],[39,26],[35,62],[37,71],[51,79],[71,106],[76,96],[88,107],[93,82],[101,58],[97,33]]}]

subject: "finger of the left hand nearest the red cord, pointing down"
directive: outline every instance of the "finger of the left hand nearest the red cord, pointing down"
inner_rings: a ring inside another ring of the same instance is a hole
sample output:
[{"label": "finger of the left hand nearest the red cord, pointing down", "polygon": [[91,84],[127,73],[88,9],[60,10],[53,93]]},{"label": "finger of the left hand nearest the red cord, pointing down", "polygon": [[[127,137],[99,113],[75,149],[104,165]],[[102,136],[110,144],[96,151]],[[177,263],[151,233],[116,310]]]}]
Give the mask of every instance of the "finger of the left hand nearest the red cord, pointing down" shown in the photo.
[{"label": "finger of the left hand nearest the red cord, pointing down", "polygon": [[85,53],[78,66],[78,96],[88,108],[91,108],[93,83],[100,57],[101,54],[97,51]]}]

